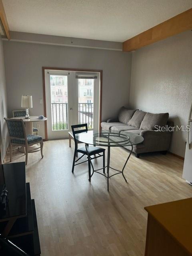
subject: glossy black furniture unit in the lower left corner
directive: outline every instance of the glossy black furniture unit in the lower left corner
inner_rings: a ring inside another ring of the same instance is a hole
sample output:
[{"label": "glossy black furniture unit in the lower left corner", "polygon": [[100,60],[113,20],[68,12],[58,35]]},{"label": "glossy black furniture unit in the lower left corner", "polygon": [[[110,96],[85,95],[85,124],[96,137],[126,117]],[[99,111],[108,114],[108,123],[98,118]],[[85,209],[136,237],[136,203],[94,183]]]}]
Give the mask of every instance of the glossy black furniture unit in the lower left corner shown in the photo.
[{"label": "glossy black furniture unit in the lower left corner", "polygon": [[[0,205],[1,238],[30,256],[40,255],[35,202],[26,183],[25,162],[0,165],[0,192],[4,186],[8,202],[6,210]],[[0,246],[0,255],[6,255],[6,247]]]}]

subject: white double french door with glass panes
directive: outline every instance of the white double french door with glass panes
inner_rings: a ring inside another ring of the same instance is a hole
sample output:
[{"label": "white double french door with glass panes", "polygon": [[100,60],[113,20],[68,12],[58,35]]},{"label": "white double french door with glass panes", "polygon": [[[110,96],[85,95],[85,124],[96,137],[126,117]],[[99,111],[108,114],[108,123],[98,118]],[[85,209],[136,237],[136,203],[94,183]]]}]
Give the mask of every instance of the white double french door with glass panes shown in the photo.
[{"label": "white double french door with glass panes", "polygon": [[68,138],[72,124],[99,128],[100,73],[44,70],[48,139]]}]

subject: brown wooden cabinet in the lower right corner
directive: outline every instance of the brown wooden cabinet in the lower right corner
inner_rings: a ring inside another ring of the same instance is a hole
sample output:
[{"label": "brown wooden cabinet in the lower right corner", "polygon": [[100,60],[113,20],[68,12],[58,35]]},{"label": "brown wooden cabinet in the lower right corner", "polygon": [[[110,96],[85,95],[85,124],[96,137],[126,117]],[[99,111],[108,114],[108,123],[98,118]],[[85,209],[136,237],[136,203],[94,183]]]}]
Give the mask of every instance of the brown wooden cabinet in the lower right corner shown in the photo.
[{"label": "brown wooden cabinet in the lower right corner", "polygon": [[145,207],[145,256],[192,255],[192,198]]}]

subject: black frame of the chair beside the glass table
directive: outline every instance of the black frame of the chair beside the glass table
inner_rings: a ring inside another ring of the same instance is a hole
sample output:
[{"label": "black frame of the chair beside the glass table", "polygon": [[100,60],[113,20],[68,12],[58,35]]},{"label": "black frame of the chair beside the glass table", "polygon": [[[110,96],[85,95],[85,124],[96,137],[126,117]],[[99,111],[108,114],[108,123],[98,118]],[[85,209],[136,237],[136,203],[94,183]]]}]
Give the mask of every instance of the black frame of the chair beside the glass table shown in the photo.
[{"label": "black frame of the chair beside the glass table", "polygon": [[[74,130],[76,128],[82,128],[82,127],[85,127],[85,129]],[[91,178],[91,163],[90,163],[90,161],[93,160],[93,159],[99,158],[101,156],[103,157],[103,168],[102,169],[103,169],[103,173],[105,173],[105,149],[104,148],[101,148],[101,152],[103,153],[102,155],[100,155],[98,153],[97,154],[98,156],[94,155],[94,157],[91,157],[91,155],[88,157],[88,152],[87,151],[85,152],[85,154],[83,154],[82,152],[78,151],[78,143],[77,143],[75,135],[79,134],[81,132],[87,132],[88,131],[87,124],[75,124],[75,125],[71,126],[71,129],[72,129],[72,133],[73,133],[73,137],[74,137],[74,143],[75,143],[74,158],[73,158],[73,165],[72,165],[72,173],[74,172],[74,167],[76,165],[82,164],[84,162],[88,162],[88,171],[89,171],[89,180],[90,180],[90,178]],[[86,144],[86,145],[89,146],[88,144]],[[80,156],[77,160],[75,160],[77,153],[81,153],[82,156]],[[76,162],[78,162],[84,155],[87,155],[87,160],[76,164]],[[89,158],[90,158],[90,160],[89,160]]]}]

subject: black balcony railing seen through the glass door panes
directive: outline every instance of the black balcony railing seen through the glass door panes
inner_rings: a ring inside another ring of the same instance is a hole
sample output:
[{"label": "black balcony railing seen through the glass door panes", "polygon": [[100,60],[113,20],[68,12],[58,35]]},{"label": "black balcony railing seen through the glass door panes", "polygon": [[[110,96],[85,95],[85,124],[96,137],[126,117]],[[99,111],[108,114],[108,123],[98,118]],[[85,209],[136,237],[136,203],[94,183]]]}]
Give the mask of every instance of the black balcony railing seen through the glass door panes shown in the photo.
[{"label": "black balcony railing seen through the glass door panes", "polygon": [[[88,129],[93,128],[93,103],[78,104],[79,124],[88,124]],[[52,130],[68,130],[68,103],[52,103]]]}]

